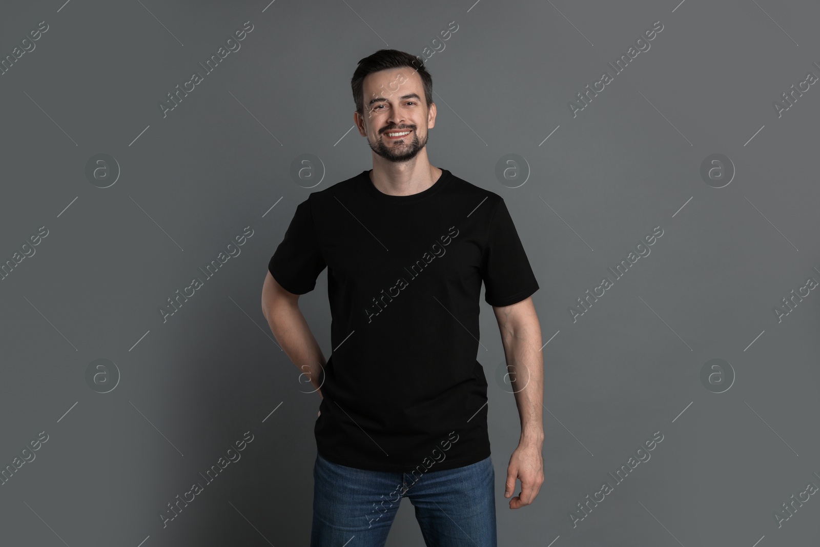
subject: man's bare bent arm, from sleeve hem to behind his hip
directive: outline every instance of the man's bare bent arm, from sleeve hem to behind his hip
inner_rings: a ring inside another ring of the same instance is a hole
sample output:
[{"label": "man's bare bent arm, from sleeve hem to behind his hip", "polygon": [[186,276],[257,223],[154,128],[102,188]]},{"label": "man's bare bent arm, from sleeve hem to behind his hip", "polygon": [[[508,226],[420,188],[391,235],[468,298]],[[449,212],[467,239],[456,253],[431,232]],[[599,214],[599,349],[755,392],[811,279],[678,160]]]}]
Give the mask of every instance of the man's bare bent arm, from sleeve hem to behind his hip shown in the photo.
[{"label": "man's bare bent arm, from sleeve hem to behind his hip", "polygon": [[262,313],[276,340],[299,371],[305,373],[321,394],[319,377],[326,365],[319,344],[299,310],[298,294],[289,293],[267,272],[262,285]]}]

